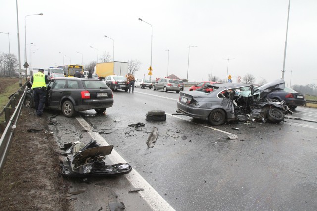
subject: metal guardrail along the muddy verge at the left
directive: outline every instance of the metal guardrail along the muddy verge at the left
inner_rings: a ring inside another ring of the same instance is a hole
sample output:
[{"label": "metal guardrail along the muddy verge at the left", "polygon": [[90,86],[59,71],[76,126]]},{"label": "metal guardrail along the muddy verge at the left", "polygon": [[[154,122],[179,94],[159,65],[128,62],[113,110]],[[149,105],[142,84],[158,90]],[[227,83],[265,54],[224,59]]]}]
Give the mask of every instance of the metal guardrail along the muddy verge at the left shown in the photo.
[{"label": "metal guardrail along the muddy verge at the left", "polygon": [[[10,150],[13,131],[19,120],[24,98],[26,96],[25,87],[28,81],[11,96],[10,101],[0,112],[0,117],[5,116],[5,121],[0,123],[0,175],[4,168],[7,154]],[[10,108],[11,107],[11,108]]]}]

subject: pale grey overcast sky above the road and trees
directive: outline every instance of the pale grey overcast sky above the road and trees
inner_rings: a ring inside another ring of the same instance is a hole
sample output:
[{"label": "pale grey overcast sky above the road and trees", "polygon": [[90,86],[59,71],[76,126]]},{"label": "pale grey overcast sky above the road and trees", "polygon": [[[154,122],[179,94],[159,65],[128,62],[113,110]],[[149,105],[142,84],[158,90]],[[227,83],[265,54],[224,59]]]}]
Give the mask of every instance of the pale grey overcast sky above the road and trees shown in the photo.
[{"label": "pale grey overcast sky above the road and trees", "polygon": [[[282,77],[289,0],[18,0],[21,63],[31,46],[32,66],[48,68],[90,63],[104,51],[114,60],[139,60],[137,78],[149,78],[151,26],[153,78],[175,74],[189,81],[233,82],[251,73],[272,81]],[[0,32],[9,32],[18,55],[16,0],[0,0]],[[286,85],[317,84],[317,0],[291,0]],[[43,16],[32,14],[43,13]],[[188,68],[188,46],[190,48]],[[90,48],[90,46],[94,48]],[[98,49],[98,51],[97,51]],[[169,64],[168,51],[169,49]],[[76,53],[76,51],[80,53]],[[8,53],[8,35],[0,34]],[[59,53],[62,52],[62,53]],[[66,57],[64,57],[66,55]],[[229,66],[227,60],[229,60]],[[168,65],[167,65],[168,64]],[[292,81],[291,81],[292,76]]]}]

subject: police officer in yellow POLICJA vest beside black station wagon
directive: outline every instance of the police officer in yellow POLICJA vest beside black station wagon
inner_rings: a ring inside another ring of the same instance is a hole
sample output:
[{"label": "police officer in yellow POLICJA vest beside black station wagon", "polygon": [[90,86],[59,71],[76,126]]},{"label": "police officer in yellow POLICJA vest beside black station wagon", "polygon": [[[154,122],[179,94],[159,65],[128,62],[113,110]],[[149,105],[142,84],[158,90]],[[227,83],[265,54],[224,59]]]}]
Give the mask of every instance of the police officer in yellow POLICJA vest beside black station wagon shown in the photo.
[{"label": "police officer in yellow POLICJA vest beside black station wagon", "polygon": [[32,89],[34,91],[33,99],[37,117],[41,117],[43,114],[46,84],[49,83],[48,76],[46,76],[43,72],[44,69],[39,69],[39,72],[33,74],[31,78]]}]

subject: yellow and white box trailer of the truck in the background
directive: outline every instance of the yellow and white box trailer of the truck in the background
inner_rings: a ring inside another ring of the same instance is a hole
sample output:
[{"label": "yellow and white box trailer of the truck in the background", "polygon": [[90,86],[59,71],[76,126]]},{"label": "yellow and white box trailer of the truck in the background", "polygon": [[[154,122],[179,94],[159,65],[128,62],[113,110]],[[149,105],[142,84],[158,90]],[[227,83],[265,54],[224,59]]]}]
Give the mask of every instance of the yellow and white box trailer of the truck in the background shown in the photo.
[{"label": "yellow and white box trailer of the truck in the background", "polygon": [[100,79],[104,79],[106,76],[118,75],[125,76],[128,74],[127,62],[102,62],[96,64],[96,70],[94,72]]}]

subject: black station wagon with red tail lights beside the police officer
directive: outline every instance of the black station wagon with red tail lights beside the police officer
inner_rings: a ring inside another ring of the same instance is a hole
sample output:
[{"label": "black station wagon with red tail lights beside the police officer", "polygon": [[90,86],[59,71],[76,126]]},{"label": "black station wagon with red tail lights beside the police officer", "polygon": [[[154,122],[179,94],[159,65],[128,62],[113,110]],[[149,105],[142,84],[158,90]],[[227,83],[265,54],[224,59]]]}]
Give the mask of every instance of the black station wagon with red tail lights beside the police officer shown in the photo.
[{"label": "black station wagon with red tail lights beside the police officer", "polygon": [[[66,117],[90,109],[102,113],[112,105],[112,90],[98,79],[54,78],[47,86],[45,108],[61,110]],[[25,106],[34,106],[32,89],[27,90]]]}]

